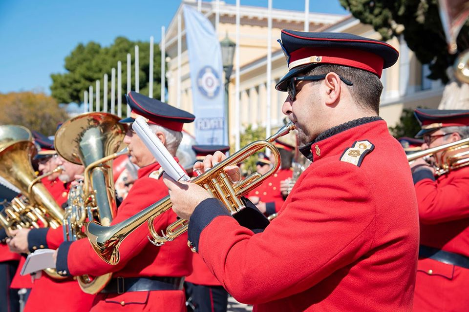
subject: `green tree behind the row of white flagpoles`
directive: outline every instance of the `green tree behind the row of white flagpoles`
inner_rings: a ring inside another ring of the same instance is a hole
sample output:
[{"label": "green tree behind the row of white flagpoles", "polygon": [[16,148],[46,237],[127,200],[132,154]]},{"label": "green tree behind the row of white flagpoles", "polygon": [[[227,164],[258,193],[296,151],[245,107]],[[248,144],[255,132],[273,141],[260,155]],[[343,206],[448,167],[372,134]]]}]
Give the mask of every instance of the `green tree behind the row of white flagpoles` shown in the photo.
[{"label": "green tree behind the row of white flagpoles", "polygon": [[[131,41],[117,37],[108,47],[99,43],[80,43],[65,58],[64,74],[52,74],[50,90],[52,97],[60,103],[82,102],[83,92],[92,85],[95,89],[96,80],[101,80],[101,97],[103,96],[103,77],[108,76],[108,96],[111,92],[111,69],[116,69],[117,61],[122,62],[122,102],[125,103],[127,90],[127,54],[131,54],[131,90],[135,90],[135,45],[139,47],[139,87],[140,93],[149,94],[149,42]],[[161,53],[157,44],[154,45],[153,60],[153,97],[160,97]],[[95,90],[94,90],[95,91]],[[116,90],[117,97],[117,90]],[[117,102],[117,99],[116,99]],[[125,108],[124,108],[125,110]]]}]

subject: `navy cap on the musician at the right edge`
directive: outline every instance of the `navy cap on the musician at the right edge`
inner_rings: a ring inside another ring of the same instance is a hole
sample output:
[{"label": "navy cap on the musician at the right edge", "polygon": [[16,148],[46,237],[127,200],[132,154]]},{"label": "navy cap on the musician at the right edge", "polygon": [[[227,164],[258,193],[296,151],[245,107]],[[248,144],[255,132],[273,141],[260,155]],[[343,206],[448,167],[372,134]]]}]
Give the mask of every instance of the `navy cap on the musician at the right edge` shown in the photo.
[{"label": "navy cap on the musician at the right edge", "polygon": [[423,137],[443,127],[461,127],[469,125],[469,110],[440,110],[417,108],[414,115],[422,130],[415,137]]}]

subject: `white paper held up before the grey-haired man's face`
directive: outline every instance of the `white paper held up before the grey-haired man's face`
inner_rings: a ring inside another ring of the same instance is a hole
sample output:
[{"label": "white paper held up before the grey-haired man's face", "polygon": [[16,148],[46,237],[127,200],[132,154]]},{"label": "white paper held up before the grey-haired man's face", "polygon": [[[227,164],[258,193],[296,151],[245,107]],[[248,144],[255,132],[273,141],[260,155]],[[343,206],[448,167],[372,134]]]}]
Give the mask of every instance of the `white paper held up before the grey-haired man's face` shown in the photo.
[{"label": "white paper held up before the grey-haired man's face", "polygon": [[137,117],[135,122],[132,124],[132,129],[147,146],[151,154],[155,157],[156,161],[158,161],[161,168],[163,168],[168,176],[171,176],[175,181],[191,180],[191,178],[186,175],[184,170],[182,170],[182,168],[177,164],[174,157],[171,156],[163,143],[161,143],[160,139],[151,131],[144,117]]}]

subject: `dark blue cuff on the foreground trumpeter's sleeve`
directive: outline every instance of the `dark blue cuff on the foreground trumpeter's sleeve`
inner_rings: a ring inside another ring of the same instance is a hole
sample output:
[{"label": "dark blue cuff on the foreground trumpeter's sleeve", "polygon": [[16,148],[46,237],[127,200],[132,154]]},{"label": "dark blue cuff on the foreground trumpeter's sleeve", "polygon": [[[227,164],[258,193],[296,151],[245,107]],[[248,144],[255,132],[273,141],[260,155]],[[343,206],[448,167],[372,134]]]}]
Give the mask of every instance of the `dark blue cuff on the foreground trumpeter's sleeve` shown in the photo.
[{"label": "dark blue cuff on the foreground trumpeter's sleeve", "polygon": [[216,198],[207,198],[195,207],[191,219],[189,220],[188,235],[189,241],[196,252],[199,250],[200,234],[205,227],[219,215],[231,216],[221,201]]}]

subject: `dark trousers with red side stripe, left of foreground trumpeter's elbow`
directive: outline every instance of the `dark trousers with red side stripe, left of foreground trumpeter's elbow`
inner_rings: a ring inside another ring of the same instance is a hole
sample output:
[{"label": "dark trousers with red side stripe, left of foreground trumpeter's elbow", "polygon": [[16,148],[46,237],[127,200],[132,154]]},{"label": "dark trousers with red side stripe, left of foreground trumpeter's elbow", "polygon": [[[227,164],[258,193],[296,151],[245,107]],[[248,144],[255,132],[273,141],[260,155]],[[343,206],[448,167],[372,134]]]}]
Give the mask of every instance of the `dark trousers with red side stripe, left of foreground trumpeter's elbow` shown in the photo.
[{"label": "dark trousers with red side stripe, left of foreground trumpeter's elbow", "polygon": [[184,288],[189,312],[226,312],[228,292],[223,287],[185,282]]}]

